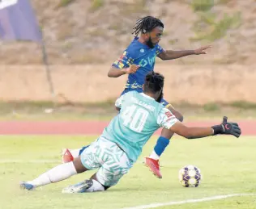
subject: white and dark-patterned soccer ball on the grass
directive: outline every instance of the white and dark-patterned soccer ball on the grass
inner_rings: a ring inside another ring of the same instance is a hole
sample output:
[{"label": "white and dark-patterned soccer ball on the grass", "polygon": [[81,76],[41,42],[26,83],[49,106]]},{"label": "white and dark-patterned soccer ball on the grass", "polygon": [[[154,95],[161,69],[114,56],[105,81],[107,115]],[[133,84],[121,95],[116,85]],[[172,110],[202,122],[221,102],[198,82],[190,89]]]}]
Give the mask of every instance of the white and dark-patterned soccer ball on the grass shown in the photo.
[{"label": "white and dark-patterned soccer ball on the grass", "polygon": [[197,187],[200,184],[202,175],[200,169],[194,165],[186,165],[179,171],[179,181],[184,187]]}]

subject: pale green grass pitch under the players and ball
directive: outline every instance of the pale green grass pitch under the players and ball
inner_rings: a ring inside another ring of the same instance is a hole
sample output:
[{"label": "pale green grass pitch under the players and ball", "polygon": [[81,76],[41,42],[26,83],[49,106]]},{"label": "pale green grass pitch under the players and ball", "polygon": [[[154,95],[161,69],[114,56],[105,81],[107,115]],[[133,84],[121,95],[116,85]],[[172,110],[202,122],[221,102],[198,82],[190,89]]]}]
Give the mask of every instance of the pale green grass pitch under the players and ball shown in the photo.
[{"label": "pale green grass pitch under the players and ball", "polygon": [[[1,209],[105,208],[134,207],[150,203],[167,203],[201,199],[220,194],[256,193],[254,137],[211,136],[200,140],[174,137],[161,157],[162,179],[154,177],[142,164],[151,153],[156,137],[143,149],[139,161],[121,182],[106,192],[62,194],[63,187],[89,178],[94,172],[75,177],[36,191],[19,190],[20,180],[31,180],[58,165],[61,148],[79,148],[96,136],[0,136]],[[4,161],[9,161],[4,163]],[[15,162],[16,161],[16,162]],[[41,163],[35,163],[41,161]],[[53,162],[44,162],[53,161]],[[198,188],[184,188],[177,179],[184,165],[197,165],[203,173]],[[163,208],[239,208],[256,207],[254,197],[236,197],[203,203],[187,203]]]}]

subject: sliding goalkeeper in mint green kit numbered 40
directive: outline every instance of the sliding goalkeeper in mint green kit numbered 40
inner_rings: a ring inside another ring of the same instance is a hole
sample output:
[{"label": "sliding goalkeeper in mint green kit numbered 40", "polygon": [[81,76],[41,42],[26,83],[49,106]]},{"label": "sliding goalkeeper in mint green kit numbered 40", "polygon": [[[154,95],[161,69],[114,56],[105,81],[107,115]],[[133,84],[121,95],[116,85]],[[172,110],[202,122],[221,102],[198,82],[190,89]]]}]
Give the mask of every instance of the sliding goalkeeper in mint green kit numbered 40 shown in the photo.
[{"label": "sliding goalkeeper in mint green kit numbered 40", "polygon": [[212,127],[186,127],[160,101],[164,87],[164,77],[150,72],[145,77],[143,92],[132,90],[117,98],[116,107],[120,113],[105,127],[99,138],[83,149],[70,161],[49,169],[38,178],[20,182],[26,190],[33,190],[53,182],[70,178],[77,173],[98,169],[90,179],[68,186],[63,193],[83,193],[104,191],[114,186],[125,175],[142,153],[143,146],[152,134],[164,127],[188,139],[202,138],[218,134],[239,137],[241,129],[237,123],[228,123],[224,117],[220,125]]}]

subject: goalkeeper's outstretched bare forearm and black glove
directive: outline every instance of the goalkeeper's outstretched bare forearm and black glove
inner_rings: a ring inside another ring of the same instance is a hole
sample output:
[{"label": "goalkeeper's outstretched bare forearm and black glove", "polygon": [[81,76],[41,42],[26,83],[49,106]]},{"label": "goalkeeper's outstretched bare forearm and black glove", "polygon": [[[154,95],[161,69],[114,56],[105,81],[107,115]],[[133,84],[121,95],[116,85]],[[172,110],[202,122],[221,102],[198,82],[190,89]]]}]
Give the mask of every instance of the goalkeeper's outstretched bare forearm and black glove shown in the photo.
[{"label": "goalkeeper's outstretched bare forearm and black glove", "polygon": [[233,135],[237,138],[241,135],[241,129],[238,124],[229,123],[227,117],[224,117],[223,122],[220,125],[212,127],[186,127],[186,125],[177,121],[177,123],[174,123],[169,130],[180,136],[184,136],[187,139],[197,139],[217,134]]}]

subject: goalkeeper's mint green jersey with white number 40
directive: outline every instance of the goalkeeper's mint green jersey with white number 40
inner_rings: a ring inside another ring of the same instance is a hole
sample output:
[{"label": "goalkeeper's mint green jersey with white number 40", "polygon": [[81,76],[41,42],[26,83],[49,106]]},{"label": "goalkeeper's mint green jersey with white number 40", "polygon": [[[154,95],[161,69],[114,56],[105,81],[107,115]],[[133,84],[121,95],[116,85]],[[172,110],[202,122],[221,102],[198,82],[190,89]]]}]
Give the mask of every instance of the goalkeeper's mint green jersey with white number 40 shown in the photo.
[{"label": "goalkeeper's mint green jersey with white number 40", "polygon": [[102,134],[122,148],[131,161],[137,161],[144,144],[160,127],[170,128],[177,118],[154,98],[130,91],[116,101],[120,113]]}]

